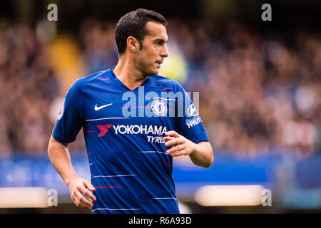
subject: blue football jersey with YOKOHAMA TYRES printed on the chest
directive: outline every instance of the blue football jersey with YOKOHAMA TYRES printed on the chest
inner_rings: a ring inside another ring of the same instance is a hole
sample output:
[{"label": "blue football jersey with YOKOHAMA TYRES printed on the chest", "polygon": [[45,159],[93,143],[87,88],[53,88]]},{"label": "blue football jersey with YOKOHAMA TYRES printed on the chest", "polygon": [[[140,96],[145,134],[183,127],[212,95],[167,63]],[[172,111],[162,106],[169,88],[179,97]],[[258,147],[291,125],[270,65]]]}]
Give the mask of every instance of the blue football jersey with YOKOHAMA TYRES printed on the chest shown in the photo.
[{"label": "blue football jersey with YOKOHAMA TYRES printed on the chest", "polygon": [[173,157],[163,137],[175,130],[195,143],[209,141],[179,83],[150,76],[129,90],[112,68],[79,78],[66,94],[53,137],[70,143],[81,128],[96,188],[92,213],[179,213]]}]

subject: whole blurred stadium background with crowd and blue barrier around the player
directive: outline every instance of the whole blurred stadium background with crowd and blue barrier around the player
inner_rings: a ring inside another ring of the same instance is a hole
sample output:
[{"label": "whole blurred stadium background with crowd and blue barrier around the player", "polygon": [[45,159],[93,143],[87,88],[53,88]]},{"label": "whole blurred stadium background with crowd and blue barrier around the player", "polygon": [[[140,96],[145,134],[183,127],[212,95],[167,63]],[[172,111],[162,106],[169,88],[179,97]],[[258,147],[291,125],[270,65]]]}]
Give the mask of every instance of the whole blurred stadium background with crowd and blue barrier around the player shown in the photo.
[{"label": "whole blurred stadium background with crowd and blue barrier around the player", "polygon": [[[321,212],[320,1],[14,0],[0,3],[0,213],[90,213],[72,204],[46,147],[71,83],[116,65],[116,21],[140,7],[168,19],[162,74],[200,92],[214,149],[208,169],[174,160],[182,212]],[[69,148],[89,179],[82,133]]]}]

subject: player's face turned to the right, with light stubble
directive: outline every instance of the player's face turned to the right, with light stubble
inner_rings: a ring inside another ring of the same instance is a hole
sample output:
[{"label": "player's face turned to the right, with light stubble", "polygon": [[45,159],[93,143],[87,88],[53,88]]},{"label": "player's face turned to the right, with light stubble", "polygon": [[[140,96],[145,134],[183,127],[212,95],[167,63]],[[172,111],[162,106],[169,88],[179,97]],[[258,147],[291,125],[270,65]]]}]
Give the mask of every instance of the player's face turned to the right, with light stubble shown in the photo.
[{"label": "player's face turned to the right, with light stubble", "polygon": [[136,68],[143,73],[143,76],[156,76],[163,59],[168,57],[165,46],[168,36],[163,24],[149,21],[146,27],[149,34],[142,41],[143,48],[137,51],[135,64]]}]

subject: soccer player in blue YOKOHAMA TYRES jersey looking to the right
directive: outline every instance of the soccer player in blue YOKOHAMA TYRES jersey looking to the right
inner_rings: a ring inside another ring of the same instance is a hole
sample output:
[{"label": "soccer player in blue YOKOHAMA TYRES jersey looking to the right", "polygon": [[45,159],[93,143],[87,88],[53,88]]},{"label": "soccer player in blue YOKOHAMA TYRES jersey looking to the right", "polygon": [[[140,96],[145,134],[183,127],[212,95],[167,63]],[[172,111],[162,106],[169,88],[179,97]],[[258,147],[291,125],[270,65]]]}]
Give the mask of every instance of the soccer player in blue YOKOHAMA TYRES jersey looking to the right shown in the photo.
[{"label": "soccer player in blue YOKOHAMA TYRES jersey looking to the right", "polygon": [[[116,67],[79,78],[66,94],[48,153],[76,206],[92,213],[179,213],[173,157],[188,155],[203,167],[213,162],[205,128],[185,90],[158,76],[168,57],[166,25],[161,14],[146,9],[123,16],[116,25]],[[134,99],[142,92],[143,99]],[[175,96],[164,98],[162,92]],[[68,152],[81,128],[91,182],[76,174]]]}]

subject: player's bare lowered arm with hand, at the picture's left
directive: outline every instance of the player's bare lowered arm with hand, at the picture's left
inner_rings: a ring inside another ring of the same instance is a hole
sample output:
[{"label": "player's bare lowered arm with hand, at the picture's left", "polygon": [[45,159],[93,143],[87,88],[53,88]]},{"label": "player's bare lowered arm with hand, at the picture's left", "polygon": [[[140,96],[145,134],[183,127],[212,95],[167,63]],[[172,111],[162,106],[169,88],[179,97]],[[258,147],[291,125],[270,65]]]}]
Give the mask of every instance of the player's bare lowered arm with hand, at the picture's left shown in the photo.
[{"label": "player's bare lowered arm with hand, at the picture's left", "polygon": [[[59,175],[61,175],[63,181],[66,182],[70,191],[71,199],[73,199],[76,206],[91,209],[91,207],[93,207],[92,202],[83,197],[83,195],[96,200],[96,197],[88,191],[94,191],[95,188],[91,185],[91,182],[79,177],[75,170],[73,170],[68,151],[68,143],[58,142],[51,135],[48,145],[48,155],[52,165],[54,165],[54,168],[57,170]],[[86,190],[86,188],[88,188],[88,190]]]}]

